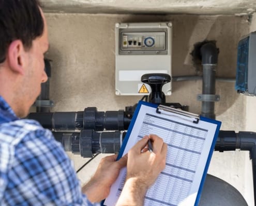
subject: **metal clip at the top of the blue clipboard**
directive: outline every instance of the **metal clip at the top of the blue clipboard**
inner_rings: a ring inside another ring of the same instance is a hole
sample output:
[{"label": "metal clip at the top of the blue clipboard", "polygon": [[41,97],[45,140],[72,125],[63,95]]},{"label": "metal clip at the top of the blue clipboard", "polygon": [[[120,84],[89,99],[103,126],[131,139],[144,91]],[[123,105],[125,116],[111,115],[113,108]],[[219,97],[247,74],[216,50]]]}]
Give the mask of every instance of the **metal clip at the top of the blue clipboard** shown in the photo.
[{"label": "metal clip at the top of the blue clipboard", "polygon": [[[172,107],[167,107],[167,106],[164,106],[164,105],[159,105],[157,107],[156,112],[159,113],[159,114],[166,114],[166,115],[169,115],[169,116],[174,115],[174,116],[177,116],[179,118],[182,118],[182,119],[185,119],[185,120],[188,120],[188,121],[192,121],[195,124],[198,124],[198,122],[200,120],[200,116],[198,114],[193,114],[193,113],[190,113],[190,112],[186,112],[186,111],[183,111],[183,110],[178,110],[178,109],[175,109],[175,108],[172,108]],[[170,114],[170,112],[172,112],[172,114]]]}]

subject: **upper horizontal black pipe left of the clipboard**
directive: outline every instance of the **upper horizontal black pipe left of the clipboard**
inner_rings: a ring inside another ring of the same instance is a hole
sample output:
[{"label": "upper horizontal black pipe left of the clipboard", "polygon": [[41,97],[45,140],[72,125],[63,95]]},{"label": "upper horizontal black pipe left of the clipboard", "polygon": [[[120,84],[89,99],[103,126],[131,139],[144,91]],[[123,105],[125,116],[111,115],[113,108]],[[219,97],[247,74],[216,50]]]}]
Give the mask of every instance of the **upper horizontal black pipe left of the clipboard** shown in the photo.
[{"label": "upper horizontal black pipe left of the clipboard", "polygon": [[80,112],[30,113],[27,118],[35,119],[43,128],[52,131],[124,131],[129,127],[132,114],[133,112],[124,110],[98,112],[96,108],[86,108]]}]

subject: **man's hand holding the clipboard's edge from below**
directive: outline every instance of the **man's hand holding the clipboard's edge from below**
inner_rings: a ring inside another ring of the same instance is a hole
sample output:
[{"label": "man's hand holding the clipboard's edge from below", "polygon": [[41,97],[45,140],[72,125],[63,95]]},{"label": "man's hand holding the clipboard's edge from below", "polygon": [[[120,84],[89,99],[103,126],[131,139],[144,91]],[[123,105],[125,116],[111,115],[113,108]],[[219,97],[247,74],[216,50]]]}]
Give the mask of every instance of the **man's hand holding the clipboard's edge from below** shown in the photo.
[{"label": "man's hand holding the clipboard's edge from below", "polygon": [[82,192],[91,202],[99,202],[109,195],[110,187],[115,182],[122,167],[126,166],[127,155],[116,161],[117,155],[101,159],[92,179],[83,186]]}]

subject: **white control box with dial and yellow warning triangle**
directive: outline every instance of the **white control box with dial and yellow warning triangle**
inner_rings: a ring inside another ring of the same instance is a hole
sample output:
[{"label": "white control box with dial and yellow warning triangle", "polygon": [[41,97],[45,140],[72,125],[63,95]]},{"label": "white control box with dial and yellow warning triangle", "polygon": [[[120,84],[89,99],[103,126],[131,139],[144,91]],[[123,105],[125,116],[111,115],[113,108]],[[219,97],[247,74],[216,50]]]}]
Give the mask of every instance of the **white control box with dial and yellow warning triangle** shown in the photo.
[{"label": "white control box with dial and yellow warning triangle", "polygon": [[[115,25],[115,94],[149,95],[141,76],[171,76],[172,23],[117,23]],[[171,82],[162,91],[171,95]]]}]

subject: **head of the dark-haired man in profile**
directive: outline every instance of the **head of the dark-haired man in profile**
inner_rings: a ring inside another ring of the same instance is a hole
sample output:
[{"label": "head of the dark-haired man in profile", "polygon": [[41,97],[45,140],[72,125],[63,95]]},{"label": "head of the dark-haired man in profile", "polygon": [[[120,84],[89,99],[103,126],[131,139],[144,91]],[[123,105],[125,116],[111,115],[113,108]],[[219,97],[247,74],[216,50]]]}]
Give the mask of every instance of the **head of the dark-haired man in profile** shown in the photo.
[{"label": "head of the dark-haired man in profile", "polygon": [[47,81],[48,31],[38,1],[0,0],[0,31],[0,95],[24,117]]}]

